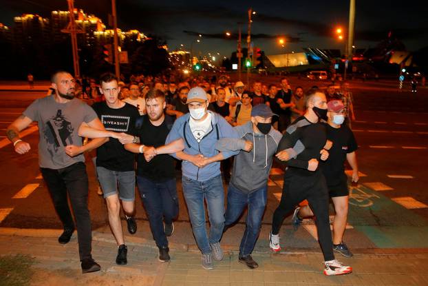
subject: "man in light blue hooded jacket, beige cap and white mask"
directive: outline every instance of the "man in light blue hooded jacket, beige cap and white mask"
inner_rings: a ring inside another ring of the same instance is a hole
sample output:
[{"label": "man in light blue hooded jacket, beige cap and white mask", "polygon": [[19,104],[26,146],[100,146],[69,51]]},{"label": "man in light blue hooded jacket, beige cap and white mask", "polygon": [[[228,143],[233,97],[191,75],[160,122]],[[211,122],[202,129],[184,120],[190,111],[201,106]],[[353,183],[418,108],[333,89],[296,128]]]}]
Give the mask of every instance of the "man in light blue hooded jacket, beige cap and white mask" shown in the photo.
[{"label": "man in light blue hooded jacket, beige cap and white mask", "polygon": [[[221,138],[237,138],[237,132],[227,121],[207,111],[208,99],[202,88],[192,88],[187,95],[189,114],[178,118],[166,144],[184,140],[184,150],[172,154],[183,160],[182,187],[197,246],[202,252],[202,267],[213,269],[213,259],[221,261],[220,238],[224,228],[224,188],[220,161],[238,152],[219,152],[215,143]],[[206,233],[205,207],[208,205],[210,235]]]}]

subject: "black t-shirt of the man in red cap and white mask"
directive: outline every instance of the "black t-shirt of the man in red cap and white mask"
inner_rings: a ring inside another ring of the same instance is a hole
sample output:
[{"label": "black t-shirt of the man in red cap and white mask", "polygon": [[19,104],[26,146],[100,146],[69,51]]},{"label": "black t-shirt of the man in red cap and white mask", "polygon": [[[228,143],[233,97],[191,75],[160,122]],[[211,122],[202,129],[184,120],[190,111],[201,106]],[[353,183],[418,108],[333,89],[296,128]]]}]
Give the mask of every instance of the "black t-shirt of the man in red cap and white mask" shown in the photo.
[{"label": "black t-shirt of the man in red cap and white mask", "polygon": [[337,185],[341,183],[345,174],[346,154],[358,149],[354,133],[347,125],[341,125],[340,128],[325,125],[327,139],[333,142],[330,148],[327,161],[321,161],[321,169],[328,185]]}]

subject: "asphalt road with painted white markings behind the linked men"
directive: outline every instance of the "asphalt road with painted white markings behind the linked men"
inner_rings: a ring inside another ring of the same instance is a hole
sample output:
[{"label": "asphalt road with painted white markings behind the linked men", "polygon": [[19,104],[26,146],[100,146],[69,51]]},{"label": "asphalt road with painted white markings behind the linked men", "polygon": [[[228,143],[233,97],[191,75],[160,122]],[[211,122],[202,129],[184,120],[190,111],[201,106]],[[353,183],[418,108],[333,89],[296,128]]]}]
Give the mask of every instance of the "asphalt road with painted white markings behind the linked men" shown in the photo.
[{"label": "asphalt road with painted white markings behind the linked men", "polygon": [[[279,81],[273,77],[261,79],[265,83]],[[326,85],[297,78],[290,78],[290,84],[292,88]],[[428,247],[422,238],[428,234],[428,89],[411,94],[398,92],[396,83],[392,82],[351,81],[350,84],[357,117],[352,128],[359,143],[357,156],[362,176],[359,186],[352,187],[348,245],[353,243],[353,247],[359,248]],[[0,142],[6,137],[8,124],[32,100],[44,95],[44,92],[0,91]],[[23,156],[15,154],[10,144],[0,143],[0,227],[61,228],[39,176],[38,136],[38,132],[32,132],[24,137],[32,150]],[[281,193],[282,174],[278,167],[275,166],[271,175],[264,228],[258,245],[261,248],[267,247],[267,232]],[[90,160],[87,160],[87,170],[90,177],[89,209],[94,228],[108,232],[107,211],[103,198],[96,194],[94,167]],[[180,185],[178,181],[180,215],[173,239],[193,243]],[[17,198],[17,194],[23,194],[23,197]],[[138,235],[150,237],[140,198],[136,205],[139,225],[147,230],[138,232]],[[226,235],[224,239],[228,243],[237,244],[244,220],[243,216],[235,231]],[[310,221],[295,234],[290,231],[289,224],[288,218],[283,232],[290,245],[317,246]],[[400,236],[403,232],[406,238]]]}]

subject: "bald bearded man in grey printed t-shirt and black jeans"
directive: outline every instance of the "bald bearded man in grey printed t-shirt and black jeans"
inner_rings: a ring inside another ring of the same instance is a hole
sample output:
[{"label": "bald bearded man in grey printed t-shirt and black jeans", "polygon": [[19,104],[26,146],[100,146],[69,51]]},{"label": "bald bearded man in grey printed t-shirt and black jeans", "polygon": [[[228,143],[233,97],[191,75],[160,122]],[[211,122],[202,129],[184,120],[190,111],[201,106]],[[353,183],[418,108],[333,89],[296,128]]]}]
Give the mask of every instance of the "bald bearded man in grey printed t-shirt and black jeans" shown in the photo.
[{"label": "bald bearded man in grey printed t-shirt and black jeans", "polygon": [[[19,139],[19,132],[37,121],[39,124],[39,165],[64,232],[58,238],[68,243],[74,232],[67,194],[76,216],[78,247],[82,272],[96,272],[100,265],[91,255],[91,218],[87,208],[88,179],[83,152],[120,138],[104,130],[98,116],[86,103],[74,98],[74,79],[68,72],[56,72],[51,78],[54,94],[37,99],[15,120],[7,131],[18,154],[30,151],[30,144]],[[86,145],[81,136],[96,138]]]}]

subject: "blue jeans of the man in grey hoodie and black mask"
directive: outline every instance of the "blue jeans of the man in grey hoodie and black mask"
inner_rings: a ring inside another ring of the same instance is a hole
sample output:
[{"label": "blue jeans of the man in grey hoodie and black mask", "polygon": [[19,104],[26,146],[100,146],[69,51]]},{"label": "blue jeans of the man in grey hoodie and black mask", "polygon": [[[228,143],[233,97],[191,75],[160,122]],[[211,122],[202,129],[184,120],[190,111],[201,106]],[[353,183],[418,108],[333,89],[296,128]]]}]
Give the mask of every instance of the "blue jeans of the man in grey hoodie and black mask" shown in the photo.
[{"label": "blue jeans of the man in grey hoodie and black mask", "polygon": [[266,207],[268,186],[259,188],[259,190],[246,194],[232,184],[229,184],[227,192],[226,222],[228,227],[237,221],[244,208],[248,205],[246,217],[246,228],[239,245],[239,257],[247,256],[253,252],[257,237],[261,227],[261,218]]}]

